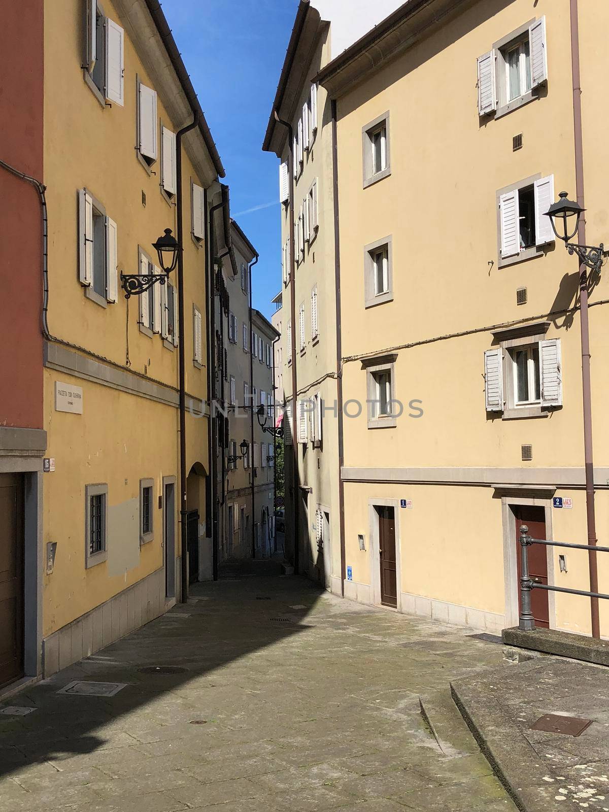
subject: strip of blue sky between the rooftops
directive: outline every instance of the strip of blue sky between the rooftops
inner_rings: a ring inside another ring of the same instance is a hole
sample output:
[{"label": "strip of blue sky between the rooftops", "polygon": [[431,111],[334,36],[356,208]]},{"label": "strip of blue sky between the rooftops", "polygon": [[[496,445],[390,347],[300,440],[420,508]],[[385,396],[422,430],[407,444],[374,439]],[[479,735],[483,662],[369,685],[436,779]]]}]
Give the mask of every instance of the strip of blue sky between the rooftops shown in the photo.
[{"label": "strip of blue sky between the rooftops", "polygon": [[281,286],[279,159],[261,147],[297,6],[298,0],[162,0],[227,171],[231,214],[260,254],[253,305],[267,317]]}]

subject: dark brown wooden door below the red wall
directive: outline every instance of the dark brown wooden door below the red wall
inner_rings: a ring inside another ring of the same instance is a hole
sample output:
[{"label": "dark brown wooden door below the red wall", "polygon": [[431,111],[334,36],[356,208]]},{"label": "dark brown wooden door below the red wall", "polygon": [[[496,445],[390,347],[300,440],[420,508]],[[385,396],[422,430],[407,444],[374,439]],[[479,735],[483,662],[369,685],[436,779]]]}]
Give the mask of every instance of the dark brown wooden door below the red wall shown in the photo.
[{"label": "dark brown wooden door below the red wall", "polygon": [[0,473],[0,685],[24,676],[24,483]]}]

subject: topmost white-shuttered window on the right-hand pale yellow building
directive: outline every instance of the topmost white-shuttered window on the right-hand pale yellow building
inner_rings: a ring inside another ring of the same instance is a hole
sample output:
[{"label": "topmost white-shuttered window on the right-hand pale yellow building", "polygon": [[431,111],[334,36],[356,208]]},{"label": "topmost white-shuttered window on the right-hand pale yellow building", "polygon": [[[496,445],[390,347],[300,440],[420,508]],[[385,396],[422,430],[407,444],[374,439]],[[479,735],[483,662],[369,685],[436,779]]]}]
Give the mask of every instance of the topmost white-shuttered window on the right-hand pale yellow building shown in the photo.
[{"label": "topmost white-shuttered window on the right-hand pale yellow building", "polygon": [[533,19],[477,60],[478,113],[495,118],[539,97],[547,80],[546,18]]}]

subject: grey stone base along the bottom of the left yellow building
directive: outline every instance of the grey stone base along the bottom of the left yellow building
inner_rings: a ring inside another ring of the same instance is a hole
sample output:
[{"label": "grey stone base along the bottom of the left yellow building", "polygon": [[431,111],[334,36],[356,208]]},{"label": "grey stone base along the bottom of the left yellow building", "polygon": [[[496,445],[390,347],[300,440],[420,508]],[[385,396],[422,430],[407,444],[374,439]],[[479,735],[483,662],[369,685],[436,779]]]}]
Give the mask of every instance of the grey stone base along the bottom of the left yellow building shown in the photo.
[{"label": "grey stone base along the bottom of the left yellow building", "polygon": [[[180,559],[175,561],[179,592]],[[165,570],[158,569],[114,598],[45,637],[42,641],[42,673],[52,676],[72,663],[109,646],[136,628],[164,615],[176,598],[165,598]]]}]

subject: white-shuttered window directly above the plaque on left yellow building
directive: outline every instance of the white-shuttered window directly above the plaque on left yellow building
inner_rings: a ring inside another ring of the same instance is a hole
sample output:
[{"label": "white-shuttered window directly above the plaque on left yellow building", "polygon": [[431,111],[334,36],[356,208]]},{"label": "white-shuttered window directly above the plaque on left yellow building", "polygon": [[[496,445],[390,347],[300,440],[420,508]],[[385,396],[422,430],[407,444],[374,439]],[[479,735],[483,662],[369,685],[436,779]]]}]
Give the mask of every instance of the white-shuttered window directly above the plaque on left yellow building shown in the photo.
[{"label": "white-shuttered window directly above the plaque on left yellow building", "polygon": [[78,192],[79,279],[89,299],[106,307],[118,298],[117,227],[87,189]]}]

